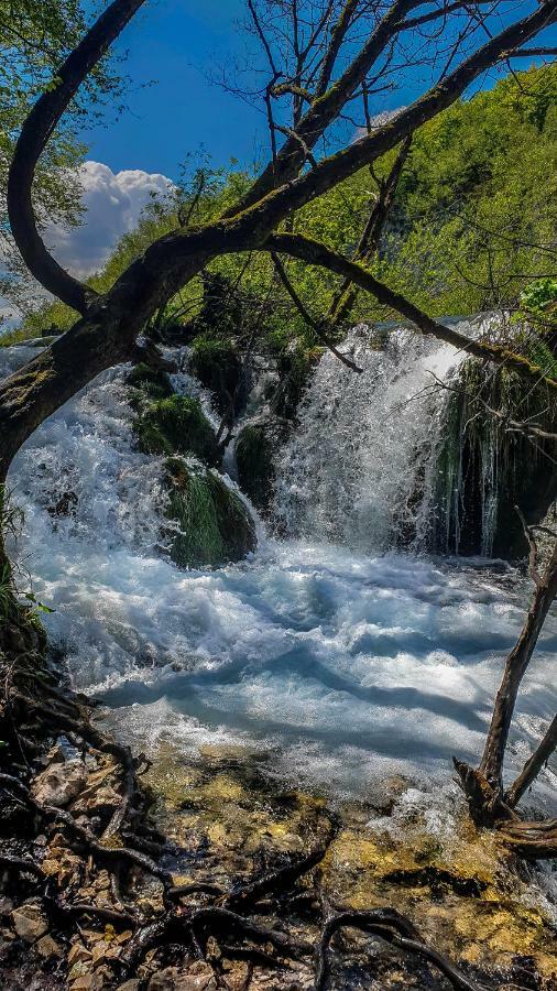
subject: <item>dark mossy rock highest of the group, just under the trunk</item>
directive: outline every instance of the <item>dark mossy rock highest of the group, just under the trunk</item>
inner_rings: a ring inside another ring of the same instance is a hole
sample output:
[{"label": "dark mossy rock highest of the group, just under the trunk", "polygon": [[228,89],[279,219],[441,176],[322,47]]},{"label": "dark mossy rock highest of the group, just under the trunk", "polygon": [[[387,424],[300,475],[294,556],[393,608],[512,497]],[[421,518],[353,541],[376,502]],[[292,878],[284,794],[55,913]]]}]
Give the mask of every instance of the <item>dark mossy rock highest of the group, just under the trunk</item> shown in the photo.
[{"label": "dark mossy rock highest of the group, just under the trunk", "polygon": [[189,369],[215,398],[220,413],[230,409],[238,414],[243,409],[247,389],[242,360],[233,340],[201,334],[192,348]]}]

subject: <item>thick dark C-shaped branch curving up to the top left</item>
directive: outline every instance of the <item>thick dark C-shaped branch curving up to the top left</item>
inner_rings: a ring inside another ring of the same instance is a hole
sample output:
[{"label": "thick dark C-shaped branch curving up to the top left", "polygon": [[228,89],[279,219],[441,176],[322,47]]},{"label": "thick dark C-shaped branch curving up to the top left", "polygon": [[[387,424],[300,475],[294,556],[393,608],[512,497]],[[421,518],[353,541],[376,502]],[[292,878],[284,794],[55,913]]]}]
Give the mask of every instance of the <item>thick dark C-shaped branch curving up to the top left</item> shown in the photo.
[{"label": "thick dark C-shaped branch curving up to the top left", "polygon": [[144,0],[114,0],[68,55],[52,88],[34,105],[23,124],[8,178],[8,213],[15,244],[31,274],[68,306],[84,314],[96,295],[66,272],[42,240],[32,203],[36,163],[80,84]]}]

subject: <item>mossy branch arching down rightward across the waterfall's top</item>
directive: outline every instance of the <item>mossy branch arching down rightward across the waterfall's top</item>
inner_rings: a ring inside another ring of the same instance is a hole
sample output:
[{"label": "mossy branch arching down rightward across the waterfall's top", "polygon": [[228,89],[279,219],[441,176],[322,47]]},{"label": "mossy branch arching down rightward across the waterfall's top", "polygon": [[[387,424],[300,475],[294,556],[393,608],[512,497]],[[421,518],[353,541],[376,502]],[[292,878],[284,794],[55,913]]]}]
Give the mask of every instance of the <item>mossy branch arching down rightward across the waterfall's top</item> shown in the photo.
[{"label": "mossy branch arching down rightward across the waterfall's top", "polygon": [[436,337],[438,340],[450,344],[459,350],[467,351],[476,358],[492,361],[494,364],[504,364],[520,374],[521,378],[526,379],[531,384],[533,381],[536,384],[543,382],[545,386],[557,392],[557,381],[545,378],[543,369],[533,364],[527,358],[524,358],[522,355],[515,355],[506,348],[490,341],[471,340],[452,327],[439,324],[409,300],[406,300],[405,296],[402,296],[401,293],[394,292],[394,290],[389,288],[387,285],[375,279],[362,265],[349,261],[319,241],[314,241],[302,235],[280,233],[271,235],[263,247],[264,250],[290,254],[312,265],[321,265],[325,269],[329,269],[329,271],[336,272],[338,275],[342,275],[361,288],[367,290],[380,303],[411,320],[422,334],[428,337]]}]

